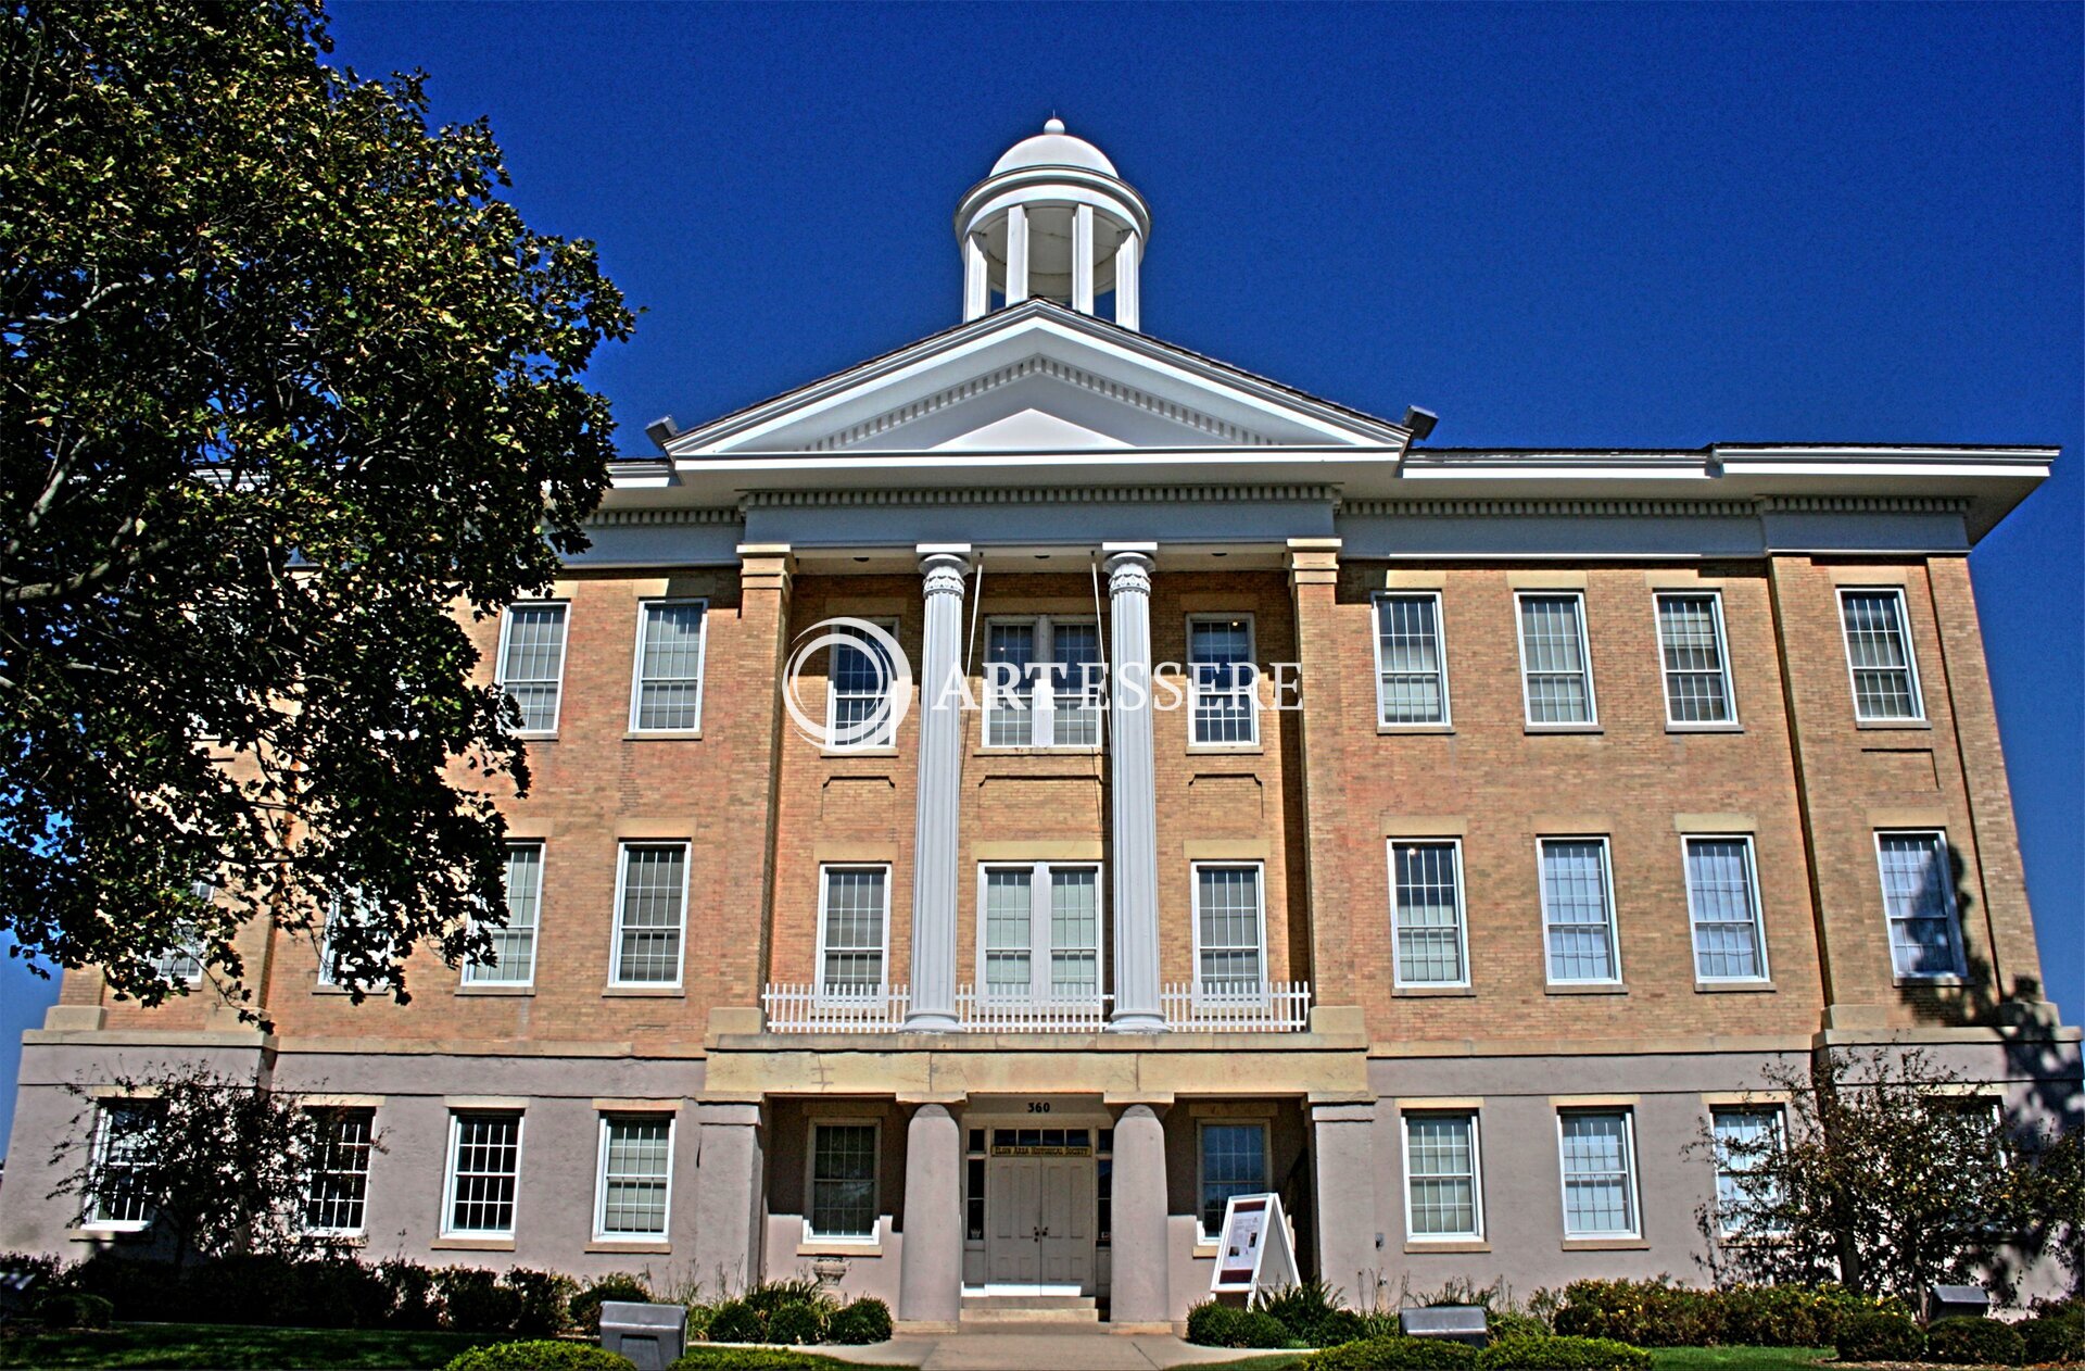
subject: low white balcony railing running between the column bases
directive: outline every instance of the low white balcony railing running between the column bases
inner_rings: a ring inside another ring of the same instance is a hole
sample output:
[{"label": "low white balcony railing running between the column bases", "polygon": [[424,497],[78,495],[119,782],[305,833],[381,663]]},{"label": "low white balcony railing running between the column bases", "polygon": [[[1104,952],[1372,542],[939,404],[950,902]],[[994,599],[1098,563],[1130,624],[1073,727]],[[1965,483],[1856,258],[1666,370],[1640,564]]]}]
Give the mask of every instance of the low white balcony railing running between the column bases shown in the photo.
[{"label": "low white balcony railing running between the column bases", "polygon": [[[1113,995],[1076,1000],[1003,1000],[963,985],[955,991],[961,1033],[1097,1033],[1107,1027]],[[769,985],[761,991],[769,1033],[897,1033],[905,1027],[911,991],[903,985],[834,991],[817,985]],[[1166,1027],[1180,1033],[1303,1033],[1309,1029],[1309,983],[1224,983],[1222,993],[1193,983],[1159,987]]]}]

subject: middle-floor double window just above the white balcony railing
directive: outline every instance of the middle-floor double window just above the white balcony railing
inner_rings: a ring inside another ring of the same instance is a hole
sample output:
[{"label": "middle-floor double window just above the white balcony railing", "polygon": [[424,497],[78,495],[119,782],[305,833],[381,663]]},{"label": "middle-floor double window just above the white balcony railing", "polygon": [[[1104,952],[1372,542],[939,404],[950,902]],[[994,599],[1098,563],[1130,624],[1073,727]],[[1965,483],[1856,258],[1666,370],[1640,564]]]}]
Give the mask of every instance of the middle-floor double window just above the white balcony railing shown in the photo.
[{"label": "middle-floor double window just above the white balcony railing", "polygon": [[995,1002],[1101,995],[1101,868],[986,862],[978,868],[978,985]]}]

